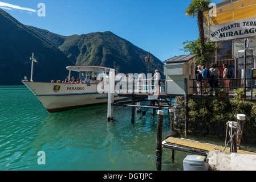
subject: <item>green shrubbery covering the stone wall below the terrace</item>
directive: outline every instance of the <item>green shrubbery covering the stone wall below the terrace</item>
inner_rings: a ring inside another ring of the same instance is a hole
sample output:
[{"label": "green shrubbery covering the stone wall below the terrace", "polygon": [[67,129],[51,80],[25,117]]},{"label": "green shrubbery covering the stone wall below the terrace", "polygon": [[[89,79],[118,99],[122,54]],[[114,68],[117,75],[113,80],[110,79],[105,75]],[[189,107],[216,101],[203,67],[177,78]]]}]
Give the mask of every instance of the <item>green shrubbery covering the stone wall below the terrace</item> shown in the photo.
[{"label": "green shrubbery covering the stone wall below the terrace", "polygon": [[204,125],[205,127],[226,127],[226,122],[237,121],[235,115],[245,114],[243,131],[251,136],[256,133],[256,102],[249,100],[233,100],[223,98],[189,98],[188,100],[188,127]]}]

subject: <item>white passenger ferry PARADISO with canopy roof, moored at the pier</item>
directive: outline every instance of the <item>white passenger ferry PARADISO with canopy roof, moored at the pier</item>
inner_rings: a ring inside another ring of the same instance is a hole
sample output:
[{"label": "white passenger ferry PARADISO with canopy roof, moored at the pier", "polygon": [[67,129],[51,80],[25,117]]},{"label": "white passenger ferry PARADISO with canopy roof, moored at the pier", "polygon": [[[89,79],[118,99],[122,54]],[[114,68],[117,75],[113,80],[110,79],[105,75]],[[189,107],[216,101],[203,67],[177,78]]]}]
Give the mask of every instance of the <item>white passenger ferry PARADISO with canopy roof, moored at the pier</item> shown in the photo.
[{"label": "white passenger ferry PARADISO with canopy roof, moored at the pier", "polygon": [[[104,90],[108,90],[107,73],[115,72],[115,69],[100,66],[69,66],[66,68],[69,71],[69,79],[71,79],[71,71],[79,72],[79,79],[81,80],[89,76],[90,85],[66,82],[35,82],[32,79],[22,82],[35,94],[49,113],[107,103],[108,93],[102,92],[102,89],[104,87]],[[115,94],[115,101],[124,99],[125,97],[119,97]]]}]

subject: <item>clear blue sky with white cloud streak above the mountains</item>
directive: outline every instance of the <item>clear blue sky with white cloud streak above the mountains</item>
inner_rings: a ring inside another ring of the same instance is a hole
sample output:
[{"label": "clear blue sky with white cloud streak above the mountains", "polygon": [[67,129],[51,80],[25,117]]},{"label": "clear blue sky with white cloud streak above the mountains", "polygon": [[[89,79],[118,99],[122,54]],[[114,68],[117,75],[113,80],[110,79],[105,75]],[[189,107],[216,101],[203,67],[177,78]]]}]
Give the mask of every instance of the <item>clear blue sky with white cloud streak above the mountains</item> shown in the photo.
[{"label": "clear blue sky with white cloud streak above the mountains", "polygon": [[[191,0],[0,0],[19,22],[60,35],[111,31],[161,61],[185,54],[182,42],[198,38],[197,19],[184,11]],[[213,3],[221,0],[213,0]],[[6,4],[8,3],[8,4]],[[46,16],[38,16],[44,3]],[[181,46],[181,47],[180,47]]]}]

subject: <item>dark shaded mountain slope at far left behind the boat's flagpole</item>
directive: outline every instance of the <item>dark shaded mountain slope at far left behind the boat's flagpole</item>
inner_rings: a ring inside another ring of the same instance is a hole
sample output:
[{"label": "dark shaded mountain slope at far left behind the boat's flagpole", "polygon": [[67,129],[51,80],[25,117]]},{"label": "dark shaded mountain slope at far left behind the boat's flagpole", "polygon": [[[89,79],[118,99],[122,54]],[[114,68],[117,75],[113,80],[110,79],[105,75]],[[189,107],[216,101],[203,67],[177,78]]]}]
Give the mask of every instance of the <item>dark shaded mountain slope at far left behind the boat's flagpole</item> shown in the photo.
[{"label": "dark shaded mountain slope at far left behind the boat's flagpole", "polygon": [[39,62],[34,64],[34,81],[67,76],[66,66],[74,63],[48,39],[1,9],[0,25],[0,85],[22,85],[24,76],[30,78],[32,52]]}]

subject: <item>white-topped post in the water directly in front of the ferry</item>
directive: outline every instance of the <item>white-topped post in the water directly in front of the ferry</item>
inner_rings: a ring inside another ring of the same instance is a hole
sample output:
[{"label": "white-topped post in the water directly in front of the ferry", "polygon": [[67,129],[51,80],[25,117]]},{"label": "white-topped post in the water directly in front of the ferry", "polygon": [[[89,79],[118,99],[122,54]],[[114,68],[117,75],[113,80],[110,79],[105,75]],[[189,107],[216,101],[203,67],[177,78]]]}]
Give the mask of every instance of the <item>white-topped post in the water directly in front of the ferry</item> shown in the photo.
[{"label": "white-topped post in the water directly in front of the ferry", "polygon": [[109,72],[108,80],[108,121],[113,121],[114,118],[114,108],[112,102],[114,101],[115,94],[115,70]]}]

